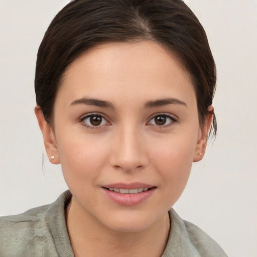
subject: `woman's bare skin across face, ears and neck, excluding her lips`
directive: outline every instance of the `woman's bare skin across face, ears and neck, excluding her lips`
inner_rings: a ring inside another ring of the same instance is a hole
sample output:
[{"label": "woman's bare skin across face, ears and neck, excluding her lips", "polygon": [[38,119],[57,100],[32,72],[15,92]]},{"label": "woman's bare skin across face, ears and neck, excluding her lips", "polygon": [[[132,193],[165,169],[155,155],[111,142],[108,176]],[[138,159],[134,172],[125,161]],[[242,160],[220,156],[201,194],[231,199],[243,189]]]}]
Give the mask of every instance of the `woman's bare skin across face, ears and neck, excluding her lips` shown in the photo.
[{"label": "woman's bare skin across face, ears and neck, excluding her lips", "polygon": [[[83,97],[111,106],[81,103]],[[173,101],[150,104],[168,98]],[[199,125],[194,88],[180,62],[151,41],[97,46],[66,70],[53,126],[38,106],[35,113],[47,155],[61,163],[73,195],[67,227],[75,255],[161,256],[168,210],[182,194],[192,162],[203,158],[212,119],[209,114]],[[100,125],[85,118],[92,113],[103,116]],[[102,188],[121,182],[155,189],[145,201],[123,206]]]}]

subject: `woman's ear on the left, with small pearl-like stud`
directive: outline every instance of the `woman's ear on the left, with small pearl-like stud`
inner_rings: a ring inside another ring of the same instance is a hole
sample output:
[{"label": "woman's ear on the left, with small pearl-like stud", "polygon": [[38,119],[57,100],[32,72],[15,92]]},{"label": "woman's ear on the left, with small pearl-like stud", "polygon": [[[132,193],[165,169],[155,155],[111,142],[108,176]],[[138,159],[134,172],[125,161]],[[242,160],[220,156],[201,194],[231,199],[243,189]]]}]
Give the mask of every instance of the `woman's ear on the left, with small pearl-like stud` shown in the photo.
[{"label": "woman's ear on the left, with small pearl-like stud", "polygon": [[[60,158],[57,151],[56,139],[52,127],[46,122],[41,108],[37,105],[35,107],[35,114],[38,119],[40,130],[43,134],[44,144],[48,159],[53,164],[60,164]],[[51,157],[54,156],[54,159]]]}]

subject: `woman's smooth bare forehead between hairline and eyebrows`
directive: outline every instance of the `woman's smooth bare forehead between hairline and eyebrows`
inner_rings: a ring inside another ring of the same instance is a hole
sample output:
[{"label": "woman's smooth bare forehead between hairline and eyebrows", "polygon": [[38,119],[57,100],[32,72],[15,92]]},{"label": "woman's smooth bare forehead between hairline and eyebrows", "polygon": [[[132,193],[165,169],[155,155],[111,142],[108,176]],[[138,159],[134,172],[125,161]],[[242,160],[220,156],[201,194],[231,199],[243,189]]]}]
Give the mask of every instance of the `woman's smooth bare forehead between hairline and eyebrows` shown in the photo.
[{"label": "woman's smooth bare forehead between hairline and eyebrows", "polygon": [[195,95],[183,65],[152,41],[106,43],[78,57],[67,68],[58,95],[72,101],[96,94],[107,100],[134,97],[135,101]]}]

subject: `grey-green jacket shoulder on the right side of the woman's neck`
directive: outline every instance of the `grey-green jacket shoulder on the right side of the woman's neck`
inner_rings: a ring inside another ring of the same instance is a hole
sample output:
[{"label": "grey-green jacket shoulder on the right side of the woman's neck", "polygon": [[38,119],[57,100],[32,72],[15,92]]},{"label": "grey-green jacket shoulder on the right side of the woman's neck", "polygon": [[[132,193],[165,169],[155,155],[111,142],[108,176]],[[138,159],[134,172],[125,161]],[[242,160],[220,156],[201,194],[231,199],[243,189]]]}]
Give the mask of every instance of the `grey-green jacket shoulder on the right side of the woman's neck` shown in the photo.
[{"label": "grey-green jacket shoulder on the right side of the woman's neck", "polygon": [[171,231],[163,256],[227,256],[222,248],[198,226],[180,218],[173,209],[169,211],[169,215]]}]

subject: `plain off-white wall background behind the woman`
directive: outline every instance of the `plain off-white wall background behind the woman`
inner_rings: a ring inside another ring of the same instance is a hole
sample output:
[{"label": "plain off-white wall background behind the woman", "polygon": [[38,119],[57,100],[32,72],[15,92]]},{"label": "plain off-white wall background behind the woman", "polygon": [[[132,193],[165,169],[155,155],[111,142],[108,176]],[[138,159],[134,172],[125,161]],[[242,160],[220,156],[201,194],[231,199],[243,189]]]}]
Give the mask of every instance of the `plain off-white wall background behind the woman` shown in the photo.
[{"label": "plain off-white wall background behind the woman", "polygon": [[[69,1],[0,0],[0,215],[51,203],[67,187],[45,160],[34,115],[36,53]],[[257,256],[257,1],[188,0],[204,26],[218,70],[218,136],[193,164],[175,204],[229,256]]]}]

